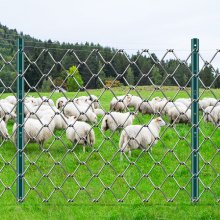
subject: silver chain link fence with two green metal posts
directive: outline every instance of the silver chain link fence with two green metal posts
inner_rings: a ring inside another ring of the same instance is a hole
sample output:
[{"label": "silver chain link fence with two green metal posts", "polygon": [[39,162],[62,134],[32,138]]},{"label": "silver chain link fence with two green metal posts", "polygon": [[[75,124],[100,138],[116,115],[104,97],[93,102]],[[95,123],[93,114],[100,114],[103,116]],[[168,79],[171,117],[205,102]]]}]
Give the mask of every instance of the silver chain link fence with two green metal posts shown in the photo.
[{"label": "silver chain link fence with two green metal posts", "polygon": [[219,51],[191,46],[158,58],[19,38],[0,54],[0,197],[219,201]]}]

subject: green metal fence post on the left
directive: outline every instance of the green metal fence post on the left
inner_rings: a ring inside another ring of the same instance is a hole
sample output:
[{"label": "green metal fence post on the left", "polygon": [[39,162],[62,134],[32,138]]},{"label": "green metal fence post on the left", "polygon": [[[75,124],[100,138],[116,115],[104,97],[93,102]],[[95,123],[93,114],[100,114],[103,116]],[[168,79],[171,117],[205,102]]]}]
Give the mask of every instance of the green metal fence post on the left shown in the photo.
[{"label": "green metal fence post on the left", "polygon": [[22,202],[24,199],[24,39],[19,38],[17,41],[17,201]]}]

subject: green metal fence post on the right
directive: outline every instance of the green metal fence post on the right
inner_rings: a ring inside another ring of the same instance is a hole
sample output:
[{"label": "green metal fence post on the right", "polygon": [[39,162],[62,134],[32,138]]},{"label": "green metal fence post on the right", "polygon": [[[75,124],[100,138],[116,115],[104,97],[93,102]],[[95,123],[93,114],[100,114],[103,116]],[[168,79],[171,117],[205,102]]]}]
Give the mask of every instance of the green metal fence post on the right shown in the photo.
[{"label": "green metal fence post on the right", "polygon": [[191,40],[191,63],[192,63],[192,202],[197,202],[199,198],[199,39]]}]

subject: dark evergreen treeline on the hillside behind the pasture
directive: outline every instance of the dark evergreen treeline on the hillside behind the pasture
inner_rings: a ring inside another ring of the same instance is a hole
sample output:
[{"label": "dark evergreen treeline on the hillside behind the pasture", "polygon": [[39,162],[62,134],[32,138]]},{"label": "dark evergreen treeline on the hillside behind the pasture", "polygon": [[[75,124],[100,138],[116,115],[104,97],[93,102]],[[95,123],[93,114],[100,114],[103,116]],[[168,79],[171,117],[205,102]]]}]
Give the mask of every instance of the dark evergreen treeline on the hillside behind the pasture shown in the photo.
[{"label": "dark evergreen treeline on the hillside behind the pasture", "polygon": [[[0,24],[0,91],[16,88],[17,30]],[[102,47],[99,44],[69,44],[41,41],[23,35],[25,41],[25,90],[67,88],[69,69],[76,66],[83,86],[89,89],[104,85],[166,85],[189,87],[189,63],[167,59],[159,61],[156,54]],[[74,76],[74,73],[73,73]],[[206,65],[199,74],[200,86],[220,88],[219,70]]]}]

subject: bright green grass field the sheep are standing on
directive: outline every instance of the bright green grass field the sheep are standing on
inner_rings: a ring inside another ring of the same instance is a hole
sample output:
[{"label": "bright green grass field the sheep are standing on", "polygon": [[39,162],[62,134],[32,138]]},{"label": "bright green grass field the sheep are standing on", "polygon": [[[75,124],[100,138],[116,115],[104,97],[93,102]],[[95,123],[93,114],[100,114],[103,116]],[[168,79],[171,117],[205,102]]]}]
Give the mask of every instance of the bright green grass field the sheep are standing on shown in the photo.
[{"label": "bright green grass field the sheep are standing on", "polygon": [[[140,87],[138,94],[145,99],[155,96],[173,99],[188,97],[190,91],[165,87],[163,93],[152,87]],[[128,88],[113,90],[122,95]],[[137,95],[136,91],[130,91]],[[220,97],[219,90],[213,90]],[[102,107],[108,111],[113,97],[111,91],[91,90],[90,94],[100,96]],[[4,98],[8,94],[2,95]],[[30,94],[37,96],[36,93]],[[41,95],[50,94],[42,93]],[[75,93],[66,93],[74,97]],[[85,93],[79,93],[85,95]],[[55,101],[62,94],[55,93]],[[213,97],[202,92],[201,97]],[[146,124],[153,116],[138,114],[135,124]],[[163,117],[166,122],[168,118]],[[6,218],[34,219],[47,216],[51,219],[71,218],[218,218],[220,199],[220,131],[212,124],[205,124],[200,114],[200,202],[191,204],[191,126],[167,125],[162,128],[161,140],[152,152],[132,151],[132,157],[120,161],[118,152],[119,133],[100,131],[102,117],[94,128],[95,150],[74,146],[66,139],[65,131],[56,131],[41,151],[37,144],[28,144],[25,149],[25,202],[17,204],[15,167],[16,150],[11,141],[0,146],[0,198]],[[169,124],[169,123],[168,123]],[[13,122],[8,124],[12,133]],[[60,138],[58,138],[60,137]],[[10,162],[10,163],[8,163]],[[59,162],[59,163],[57,163]],[[84,163],[85,162],[85,163]],[[7,190],[10,187],[11,190]],[[5,190],[6,188],[6,190]],[[48,201],[48,203],[42,203]],[[67,203],[70,201],[71,203]],[[123,201],[123,203],[122,203]],[[142,201],[148,201],[142,203]],[[94,203],[93,203],[94,202]],[[119,202],[119,203],[117,203]],[[173,203],[167,203],[173,202]],[[16,215],[16,213],[19,213]]]}]

